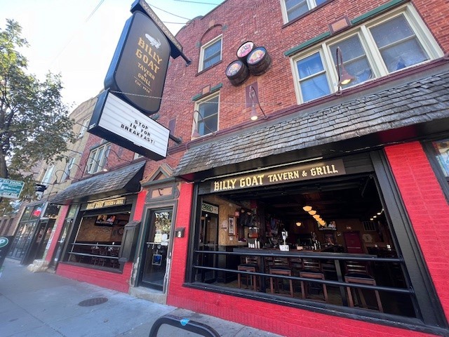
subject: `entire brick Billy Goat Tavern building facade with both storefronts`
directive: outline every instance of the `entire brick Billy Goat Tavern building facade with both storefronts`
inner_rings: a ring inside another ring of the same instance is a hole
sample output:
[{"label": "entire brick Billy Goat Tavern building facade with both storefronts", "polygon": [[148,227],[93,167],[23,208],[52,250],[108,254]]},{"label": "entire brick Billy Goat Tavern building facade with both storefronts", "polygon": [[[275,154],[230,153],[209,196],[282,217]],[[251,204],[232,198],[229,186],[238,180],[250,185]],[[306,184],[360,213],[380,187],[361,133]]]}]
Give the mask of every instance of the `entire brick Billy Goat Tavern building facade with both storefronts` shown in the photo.
[{"label": "entire brick Billy Goat Tavern building facade with both storefronts", "polygon": [[[83,254],[70,251],[82,241],[72,234],[60,275],[285,336],[448,334],[447,1],[305,6],[227,0],[180,30],[192,62],[170,60],[154,119],[182,142],[146,161],[126,209],[88,209],[125,195],[119,185],[79,192],[144,160],[115,145],[109,173],[83,177],[57,200],[66,213],[78,205],[75,224],[129,211],[133,249],[123,237],[119,268],[86,266],[69,257]],[[246,41],[264,48],[254,60],[267,69],[233,85],[228,65]],[[354,77],[347,86],[343,66]],[[91,136],[86,163],[102,145]],[[302,211],[309,204],[323,219]],[[281,232],[290,251],[279,250]],[[257,242],[267,249],[248,248]],[[241,272],[248,256],[262,262]],[[290,263],[277,291],[273,256]],[[298,257],[318,260],[322,278],[307,280]],[[353,260],[373,269],[356,277],[368,283],[345,278]]]}]

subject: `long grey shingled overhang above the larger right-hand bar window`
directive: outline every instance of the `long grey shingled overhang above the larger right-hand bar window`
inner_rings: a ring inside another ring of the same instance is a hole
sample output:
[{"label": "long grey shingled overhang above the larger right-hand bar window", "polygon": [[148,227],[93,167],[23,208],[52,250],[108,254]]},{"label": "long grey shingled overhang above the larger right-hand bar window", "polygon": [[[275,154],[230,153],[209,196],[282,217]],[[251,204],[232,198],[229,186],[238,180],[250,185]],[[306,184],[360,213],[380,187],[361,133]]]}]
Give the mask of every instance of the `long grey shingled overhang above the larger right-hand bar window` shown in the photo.
[{"label": "long grey shingled overhang above the larger right-hand bar window", "polygon": [[427,74],[340,96],[185,152],[174,176],[194,181],[314,157],[335,157],[449,131],[447,63]]}]

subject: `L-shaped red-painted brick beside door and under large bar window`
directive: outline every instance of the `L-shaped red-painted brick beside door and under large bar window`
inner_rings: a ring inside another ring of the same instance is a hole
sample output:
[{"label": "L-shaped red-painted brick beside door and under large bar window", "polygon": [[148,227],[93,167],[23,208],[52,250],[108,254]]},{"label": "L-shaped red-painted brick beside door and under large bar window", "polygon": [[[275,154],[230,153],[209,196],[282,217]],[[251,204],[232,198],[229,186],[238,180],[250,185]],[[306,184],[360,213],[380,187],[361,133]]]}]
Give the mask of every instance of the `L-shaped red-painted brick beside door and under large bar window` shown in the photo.
[{"label": "L-shaped red-painted brick beside door and under large bar window", "polygon": [[[426,333],[379,326],[281,305],[199,291],[182,286],[185,279],[190,209],[193,186],[183,183],[177,209],[176,226],[186,227],[185,237],[175,238],[167,304],[202,312],[222,319],[272,331],[282,336],[430,336]],[[356,329],[354,329],[356,326]],[[375,331],[375,333],[373,332]],[[373,334],[374,333],[374,334]]]}]

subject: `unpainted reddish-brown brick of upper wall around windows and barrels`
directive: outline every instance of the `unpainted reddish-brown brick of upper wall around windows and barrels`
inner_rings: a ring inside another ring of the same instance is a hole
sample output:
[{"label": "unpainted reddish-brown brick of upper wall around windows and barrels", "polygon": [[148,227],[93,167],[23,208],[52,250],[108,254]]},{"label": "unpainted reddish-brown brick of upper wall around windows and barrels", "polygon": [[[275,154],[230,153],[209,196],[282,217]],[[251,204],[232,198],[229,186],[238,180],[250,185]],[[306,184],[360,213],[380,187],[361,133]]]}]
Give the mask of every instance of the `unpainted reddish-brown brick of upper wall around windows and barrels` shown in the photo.
[{"label": "unpainted reddish-brown brick of upper wall around windows and barrels", "polygon": [[[297,101],[290,58],[283,53],[328,32],[328,24],[344,15],[352,20],[389,2],[334,0],[297,22],[283,27],[279,0],[225,1],[205,17],[192,20],[176,35],[192,64],[186,67],[182,58],[170,59],[158,121],[168,126],[168,121],[175,118],[175,136],[182,137],[183,143],[187,143],[192,134],[192,97],[201,93],[205,86],[220,83],[220,130],[249,125],[246,124],[249,123],[250,108],[246,108],[245,87],[254,82],[258,84],[258,98],[266,114],[295,106]],[[414,0],[411,3],[432,29],[443,51],[448,53],[449,20],[445,20],[449,17],[448,1]],[[222,62],[199,74],[201,43],[208,42],[220,34],[223,37]],[[272,67],[262,76],[250,75],[243,84],[235,87],[229,83],[225,70],[230,62],[236,60],[236,50],[244,41],[254,41],[257,46],[266,47],[272,58]],[[180,154],[174,157],[180,157]],[[177,164],[173,157],[169,157],[167,162],[170,162],[172,167]],[[150,165],[156,167],[155,164]]]}]

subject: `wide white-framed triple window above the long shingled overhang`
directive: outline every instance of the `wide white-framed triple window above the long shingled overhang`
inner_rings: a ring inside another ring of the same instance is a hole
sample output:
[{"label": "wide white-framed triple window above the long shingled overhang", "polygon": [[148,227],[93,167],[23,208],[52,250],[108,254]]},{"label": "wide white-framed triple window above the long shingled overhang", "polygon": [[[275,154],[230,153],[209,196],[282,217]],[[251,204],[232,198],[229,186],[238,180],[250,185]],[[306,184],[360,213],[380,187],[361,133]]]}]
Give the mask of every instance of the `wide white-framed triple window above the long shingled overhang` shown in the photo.
[{"label": "wide white-framed triple window above the long shingled overhang", "polygon": [[300,103],[338,90],[337,48],[344,69],[355,77],[345,88],[443,56],[408,4],[293,58]]}]

